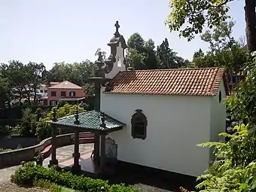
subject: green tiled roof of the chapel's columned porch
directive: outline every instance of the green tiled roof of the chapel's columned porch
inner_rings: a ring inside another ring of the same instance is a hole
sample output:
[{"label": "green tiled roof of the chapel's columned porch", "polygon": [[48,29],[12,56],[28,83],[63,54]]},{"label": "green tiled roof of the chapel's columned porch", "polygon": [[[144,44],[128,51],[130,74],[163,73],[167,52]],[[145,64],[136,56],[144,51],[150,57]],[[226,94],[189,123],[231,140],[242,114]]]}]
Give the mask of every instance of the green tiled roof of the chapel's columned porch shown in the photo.
[{"label": "green tiled roof of the chapel's columned porch", "polygon": [[87,111],[84,113],[78,114],[79,123],[76,124],[75,122],[75,114],[59,118],[57,121],[50,120],[50,123],[59,125],[59,126],[69,126],[69,127],[78,127],[86,130],[115,130],[118,128],[122,128],[126,126],[125,123],[121,123],[118,120],[115,120],[112,117],[109,117],[105,114],[105,127],[102,127],[102,120],[100,119],[100,113],[97,111]]}]

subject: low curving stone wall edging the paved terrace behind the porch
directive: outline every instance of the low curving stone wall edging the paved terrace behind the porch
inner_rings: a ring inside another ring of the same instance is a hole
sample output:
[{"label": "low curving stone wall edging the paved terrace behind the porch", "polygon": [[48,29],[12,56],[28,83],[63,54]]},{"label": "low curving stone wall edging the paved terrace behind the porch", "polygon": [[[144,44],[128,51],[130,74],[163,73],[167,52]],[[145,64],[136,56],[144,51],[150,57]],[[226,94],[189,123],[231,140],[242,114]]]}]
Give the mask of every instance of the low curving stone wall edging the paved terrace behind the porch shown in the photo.
[{"label": "low curving stone wall edging the paved terrace behind the porch", "polygon": [[[79,137],[92,137],[92,133],[80,133]],[[74,133],[69,133],[65,135],[56,136],[57,138],[57,148],[66,145],[74,144]],[[94,142],[94,140],[90,139],[85,141],[84,143]],[[8,166],[17,166],[20,165],[23,161],[31,161],[34,159],[35,154],[38,151],[43,150],[48,145],[51,144],[51,138],[44,139],[38,145],[31,146],[29,148],[21,148],[15,151],[8,151],[0,153],[0,169]]]}]

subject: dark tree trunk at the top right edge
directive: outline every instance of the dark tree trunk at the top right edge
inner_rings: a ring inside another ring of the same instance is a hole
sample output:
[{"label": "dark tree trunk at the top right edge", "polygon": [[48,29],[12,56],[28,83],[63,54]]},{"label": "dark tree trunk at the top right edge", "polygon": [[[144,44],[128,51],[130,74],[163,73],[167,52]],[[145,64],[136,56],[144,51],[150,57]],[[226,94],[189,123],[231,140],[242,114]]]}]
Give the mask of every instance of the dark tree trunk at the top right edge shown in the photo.
[{"label": "dark tree trunk at the top right edge", "polygon": [[247,48],[251,53],[256,50],[256,0],[245,0],[245,35],[247,39]]}]

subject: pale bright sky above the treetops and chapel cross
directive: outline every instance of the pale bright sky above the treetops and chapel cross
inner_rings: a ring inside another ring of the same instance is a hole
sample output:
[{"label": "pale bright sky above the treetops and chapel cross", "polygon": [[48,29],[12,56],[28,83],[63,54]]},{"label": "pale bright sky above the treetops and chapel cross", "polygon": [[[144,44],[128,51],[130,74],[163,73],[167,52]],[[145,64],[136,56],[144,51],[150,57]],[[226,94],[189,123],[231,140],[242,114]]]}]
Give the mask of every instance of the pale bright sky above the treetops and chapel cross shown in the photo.
[{"label": "pale bright sky above the treetops and chapel cross", "polygon": [[[98,48],[110,53],[107,44],[116,20],[126,41],[134,32],[155,45],[168,38],[169,47],[184,59],[192,59],[200,48],[206,51],[200,36],[188,42],[169,32],[164,24],[169,11],[169,0],[0,1],[0,62],[43,62],[51,69],[53,62],[95,61]],[[242,0],[230,2],[230,15],[238,39],[245,35]]]}]

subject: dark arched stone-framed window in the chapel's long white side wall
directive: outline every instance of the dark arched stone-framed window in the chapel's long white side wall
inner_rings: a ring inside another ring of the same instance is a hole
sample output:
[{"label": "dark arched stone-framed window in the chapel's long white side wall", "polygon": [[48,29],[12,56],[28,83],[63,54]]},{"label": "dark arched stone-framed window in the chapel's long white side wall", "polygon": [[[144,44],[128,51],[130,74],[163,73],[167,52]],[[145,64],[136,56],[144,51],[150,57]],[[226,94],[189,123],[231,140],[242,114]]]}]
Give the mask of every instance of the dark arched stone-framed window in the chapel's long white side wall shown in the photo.
[{"label": "dark arched stone-framed window in the chapel's long white side wall", "polygon": [[136,109],[136,113],[133,114],[131,123],[133,139],[146,139],[148,120],[141,109]]}]

